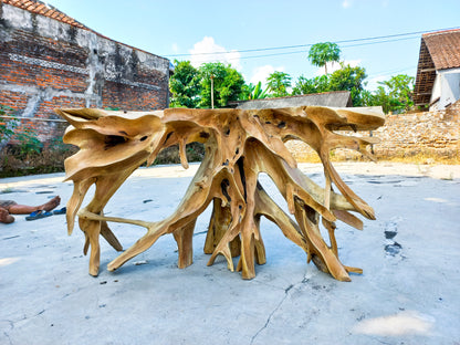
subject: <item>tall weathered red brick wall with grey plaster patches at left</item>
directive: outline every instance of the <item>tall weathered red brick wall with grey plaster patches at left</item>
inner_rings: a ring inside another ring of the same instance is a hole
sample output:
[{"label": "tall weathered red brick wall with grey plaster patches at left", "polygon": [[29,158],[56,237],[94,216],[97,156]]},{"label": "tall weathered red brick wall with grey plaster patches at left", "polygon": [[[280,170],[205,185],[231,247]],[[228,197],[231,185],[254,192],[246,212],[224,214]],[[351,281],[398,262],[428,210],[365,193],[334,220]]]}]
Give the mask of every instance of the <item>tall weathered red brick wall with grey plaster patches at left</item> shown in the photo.
[{"label": "tall weathered red brick wall with grey plaster patches at left", "polygon": [[54,108],[168,107],[168,79],[167,59],[0,2],[0,104],[42,142],[67,125]]}]

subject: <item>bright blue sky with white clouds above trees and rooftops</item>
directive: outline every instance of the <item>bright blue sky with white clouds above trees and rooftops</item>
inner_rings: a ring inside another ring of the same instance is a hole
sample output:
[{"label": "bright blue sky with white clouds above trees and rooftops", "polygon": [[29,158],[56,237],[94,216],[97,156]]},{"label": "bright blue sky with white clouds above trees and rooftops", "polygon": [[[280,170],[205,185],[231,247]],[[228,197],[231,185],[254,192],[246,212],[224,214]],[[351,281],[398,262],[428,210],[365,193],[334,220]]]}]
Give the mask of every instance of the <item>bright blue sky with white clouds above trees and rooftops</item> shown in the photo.
[{"label": "bright blue sky with white clouds above trees and rooftops", "polygon": [[[274,71],[289,73],[293,84],[300,75],[316,76],[324,69],[307,60],[310,44],[352,41],[338,43],[342,60],[365,67],[373,90],[391,75],[415,76],[421,36],[415,32],[460,28],[460,0],[45,2],[103,35],[171,62],[231,63],[252,83]],[[406,33],[414,34],[399,35]],[[384,38],[353,41],[376,36]]]}]

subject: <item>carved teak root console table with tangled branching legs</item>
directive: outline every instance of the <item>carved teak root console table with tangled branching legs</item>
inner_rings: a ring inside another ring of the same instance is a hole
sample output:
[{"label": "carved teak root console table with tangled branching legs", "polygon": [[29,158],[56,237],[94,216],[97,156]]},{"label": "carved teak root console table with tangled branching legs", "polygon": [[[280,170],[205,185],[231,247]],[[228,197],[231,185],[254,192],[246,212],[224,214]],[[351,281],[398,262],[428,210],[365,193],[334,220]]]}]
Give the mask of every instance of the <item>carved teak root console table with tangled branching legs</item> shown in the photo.
[{"label": "carved teak root console table with tangled branching legs", "polygon": [[[58,109],[71,126],[64,142],[80,147],[65,160],[66,179],[74,191],[67,203],[67,228],[72,233],[75,217],[85,234],[84,253],[90,253],[90,274],[100,268],[100,234],[112,247],[122,245],[107,222],[124,222],[146,228],[146,233],[108,264],[118,269],[129,259],[172,233],[177,241],[178,266],[192,262],[192,234],[197,217],[212,202],[212,217],[205,243],[211,254],[208,265],[222,254],[228,268],[255,276],[254,263],[265,262],[260,218],[273,221],[284,236],[301,247],[323,272],[349,281],[348,272],[362,272],[338,260],[335,221],[363,229],[363,222],[349,211],[375,219],[373,209],[341,179],[330,161],[330,151],[342,147],[367,156],[366,146],[374,138],[343,136],[336,130],[369,130],[384,124],[381,112],[364,108],[293,107],[279,109],[187,109],[170,108],[149,113],[105,112],[100,109]],[[297,168],[284,143],[301,139],[321,157],[325,186],[317,186]],[[186,144],[205,144],[205,158],[176,211],[151,222],[105,217],[104,207],[143,163],[150,165],[157,154],[179,145],[184,168],[188,167]],[[266,172],[289,206],[284,212],[258,182]],[[81,208],[88,188],[95,185],[91,202]],[[336,186],[339,192],[333,190]],[[327,244],[320,227],[328,232]],[[239,257],[237,268],[232,258]]]}]

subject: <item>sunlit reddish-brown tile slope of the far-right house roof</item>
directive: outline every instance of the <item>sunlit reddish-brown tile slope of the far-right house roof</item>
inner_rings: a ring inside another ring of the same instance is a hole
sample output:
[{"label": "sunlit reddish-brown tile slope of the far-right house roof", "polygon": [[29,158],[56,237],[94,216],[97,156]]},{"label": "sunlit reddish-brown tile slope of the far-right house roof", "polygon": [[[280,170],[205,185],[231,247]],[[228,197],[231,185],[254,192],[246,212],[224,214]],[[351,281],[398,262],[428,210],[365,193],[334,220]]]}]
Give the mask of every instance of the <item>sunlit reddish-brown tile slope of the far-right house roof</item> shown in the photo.
[{"label": "sunlit reddish-brown tile slope of the far-right house roof", "polygon": [[436,70],[460,67],[460,29],[422,35]]}]

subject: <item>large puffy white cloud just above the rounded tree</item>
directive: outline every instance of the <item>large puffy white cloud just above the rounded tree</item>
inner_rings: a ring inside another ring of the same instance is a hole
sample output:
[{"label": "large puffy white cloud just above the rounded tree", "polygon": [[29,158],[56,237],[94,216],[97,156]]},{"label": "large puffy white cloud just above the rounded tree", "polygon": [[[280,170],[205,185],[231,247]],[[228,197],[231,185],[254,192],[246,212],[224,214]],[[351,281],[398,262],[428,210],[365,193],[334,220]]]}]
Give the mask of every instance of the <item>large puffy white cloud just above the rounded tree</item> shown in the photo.
[{"label": "large puffy white cloud just above the rounded tree", "polygon": [[237,51],[227,51],[227,49],[217,44],[211,36],[205,36],[200,42],[195,43],[190,54],[190,63],[195,67],[199,67],[207,62],[222,62],[231,64],[237,71],[241,71],[241,54]]}]

